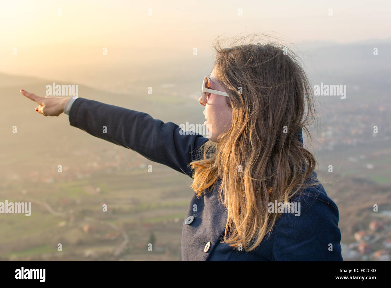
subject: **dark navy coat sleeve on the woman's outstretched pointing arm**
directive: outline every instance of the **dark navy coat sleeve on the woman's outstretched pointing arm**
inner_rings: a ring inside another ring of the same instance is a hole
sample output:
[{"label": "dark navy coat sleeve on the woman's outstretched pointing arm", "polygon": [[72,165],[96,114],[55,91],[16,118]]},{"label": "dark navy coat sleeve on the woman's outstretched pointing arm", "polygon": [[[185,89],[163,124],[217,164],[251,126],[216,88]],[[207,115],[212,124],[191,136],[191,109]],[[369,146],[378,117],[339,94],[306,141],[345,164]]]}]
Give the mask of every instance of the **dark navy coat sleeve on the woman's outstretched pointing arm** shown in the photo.
[{"label": "dark navy coat sleeve on the woman's outstretched pointing arm", "polygon": [[163,123],[147,113],[85,98],[72,103],[69,123],[190,177],[192,170],[188,164],[198,159],[199,147],[208,141],[200,134],[186,135],[178,125]]}]

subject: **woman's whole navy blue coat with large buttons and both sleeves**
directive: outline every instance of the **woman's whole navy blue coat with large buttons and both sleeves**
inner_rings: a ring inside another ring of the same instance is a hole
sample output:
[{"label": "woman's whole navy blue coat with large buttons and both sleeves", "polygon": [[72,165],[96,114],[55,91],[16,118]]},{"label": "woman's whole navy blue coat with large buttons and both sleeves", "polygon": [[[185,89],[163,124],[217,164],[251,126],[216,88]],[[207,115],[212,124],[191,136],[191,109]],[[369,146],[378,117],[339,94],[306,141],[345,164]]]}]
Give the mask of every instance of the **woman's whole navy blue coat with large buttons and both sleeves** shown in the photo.
[{"label": "woman's whole navy blue coat with large buttons and both sleeves", "polygon": [[[167,165],[192,177],[188,164],[208,141],[202,135],[181,135],[180,127],[163,123],[149,114],[95,100],[77,98],[69,111],[70,125],[85,132],[135,150],[147,159]],[[103,133],[103,127],[107,133]],[[298,137],[303,143],[302,131]],[[314,176],[316,173],[314,172]],[[283,213],[258,247],[245,252],[221,243],[227,210],[217,199],[217,188],[190,201],[182,230],[184,261],[343,261],[337,205],[323,185],[306,188],[291,199],[301,203],[301,214]],[[197,211],[194,211],[194,204]]]}]

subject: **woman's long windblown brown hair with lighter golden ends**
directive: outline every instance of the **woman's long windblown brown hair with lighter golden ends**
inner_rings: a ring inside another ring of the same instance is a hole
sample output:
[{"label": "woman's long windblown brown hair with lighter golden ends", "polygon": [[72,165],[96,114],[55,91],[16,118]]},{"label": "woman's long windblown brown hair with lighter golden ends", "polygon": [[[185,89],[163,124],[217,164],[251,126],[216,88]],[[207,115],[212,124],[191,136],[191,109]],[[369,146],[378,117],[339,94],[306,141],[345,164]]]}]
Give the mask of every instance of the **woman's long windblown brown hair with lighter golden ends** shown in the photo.
[{"label": "woman's long windblown brown hair with lighter golden ends", "polygon": [[[255,35],[255,36],[258,36]],[[312,179],[316,159],[296,137],[315,120],[312,89],[305,71],[288,47],[277,43],[222,48],[219,37],[215,77],[230,97],[232,127],[206,141],[200,160],[189,164],[197,196],[221,179],[219,200],[228,210],[224,243],[256,248],[271,232],[280,213],[268,203],[289,202]],[[212,190],[212,189],[210,189]]]}]

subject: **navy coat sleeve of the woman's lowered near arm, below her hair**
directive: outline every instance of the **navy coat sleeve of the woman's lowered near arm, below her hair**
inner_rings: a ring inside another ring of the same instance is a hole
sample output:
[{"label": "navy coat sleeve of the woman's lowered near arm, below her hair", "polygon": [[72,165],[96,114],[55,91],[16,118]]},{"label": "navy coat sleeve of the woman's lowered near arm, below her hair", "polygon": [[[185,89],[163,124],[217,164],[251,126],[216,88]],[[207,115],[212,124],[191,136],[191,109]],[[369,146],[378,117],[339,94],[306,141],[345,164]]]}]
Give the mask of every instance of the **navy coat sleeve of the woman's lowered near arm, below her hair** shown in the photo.
[{"label": "navy coat sleeve of the woman's lowered near arm, below her hair", "polygon": [[276,221],[275,261],[343,261],[339,212],[321,186],[300,196],[300,216],[284,213]]}]

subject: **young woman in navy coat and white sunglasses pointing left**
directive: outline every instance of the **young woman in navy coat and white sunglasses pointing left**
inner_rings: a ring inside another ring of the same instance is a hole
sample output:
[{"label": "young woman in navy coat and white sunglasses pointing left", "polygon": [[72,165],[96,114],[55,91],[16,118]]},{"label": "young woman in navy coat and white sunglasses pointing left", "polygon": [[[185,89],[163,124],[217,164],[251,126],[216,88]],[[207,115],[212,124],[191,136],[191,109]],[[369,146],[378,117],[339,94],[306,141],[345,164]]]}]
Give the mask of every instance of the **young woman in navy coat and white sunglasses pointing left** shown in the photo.
[{"label": "young woman in navy coat and white sunglasses pointing left", "polygon": [[21,92],[39,113],[64,112],[70,125],[194,179],[182,260],[343,261],[337,205],[303,147],[314,101],[294,53],[277,44],[214,48],[199,98],[210,138],[94,100]]}]

